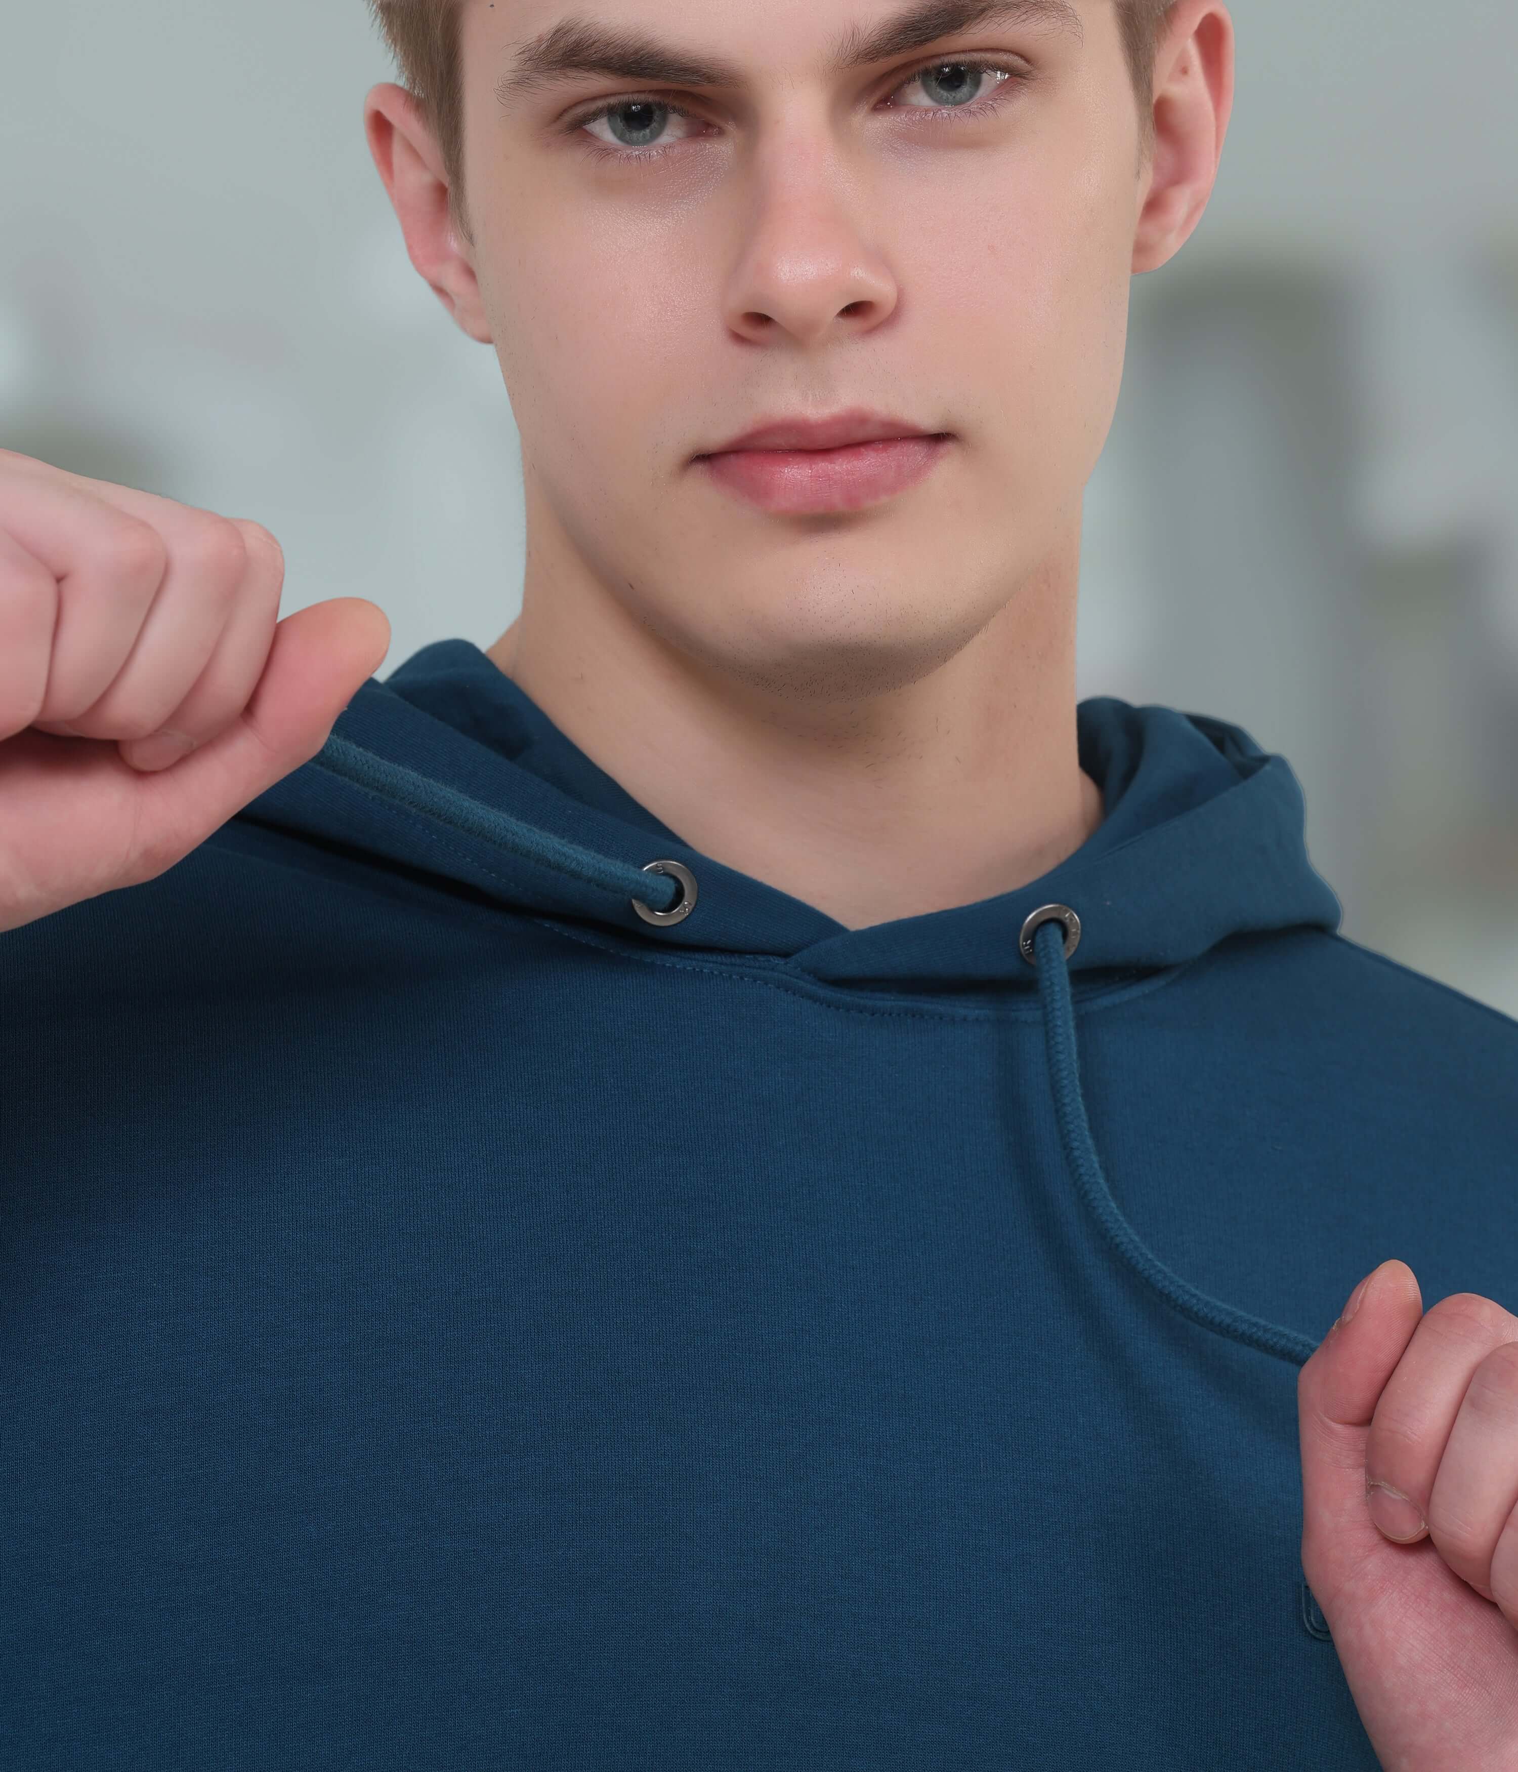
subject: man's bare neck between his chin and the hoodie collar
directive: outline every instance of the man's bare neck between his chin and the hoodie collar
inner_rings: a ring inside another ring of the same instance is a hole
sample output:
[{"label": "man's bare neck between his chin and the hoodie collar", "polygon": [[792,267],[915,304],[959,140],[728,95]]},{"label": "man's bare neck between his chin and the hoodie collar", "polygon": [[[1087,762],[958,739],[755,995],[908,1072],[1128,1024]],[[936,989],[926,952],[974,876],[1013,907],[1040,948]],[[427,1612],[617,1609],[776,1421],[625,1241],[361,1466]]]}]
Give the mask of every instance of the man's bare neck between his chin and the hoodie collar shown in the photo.
[{"label": "man's bare neck between his chin and the hoodie collar", "polygon": [[1029,884],[1102,822],[1075,748],[1079,528],[948,663],[797,700],[531,571],[487,656],[682,842],[845,929]]}]

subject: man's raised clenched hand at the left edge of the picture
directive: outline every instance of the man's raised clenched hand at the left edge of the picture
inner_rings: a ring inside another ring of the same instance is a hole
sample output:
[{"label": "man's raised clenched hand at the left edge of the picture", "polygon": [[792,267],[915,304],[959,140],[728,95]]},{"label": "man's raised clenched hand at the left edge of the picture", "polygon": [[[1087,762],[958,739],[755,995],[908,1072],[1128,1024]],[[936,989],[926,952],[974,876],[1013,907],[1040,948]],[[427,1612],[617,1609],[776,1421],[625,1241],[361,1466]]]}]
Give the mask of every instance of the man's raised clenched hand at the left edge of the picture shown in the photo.
[{"label": "man's raised clenched hand at the left edge of the picture", "polygon": [[0,450],[0,930],[156,879],[326,744],[390,622],[282,622],[283,578],[257,523]]}]

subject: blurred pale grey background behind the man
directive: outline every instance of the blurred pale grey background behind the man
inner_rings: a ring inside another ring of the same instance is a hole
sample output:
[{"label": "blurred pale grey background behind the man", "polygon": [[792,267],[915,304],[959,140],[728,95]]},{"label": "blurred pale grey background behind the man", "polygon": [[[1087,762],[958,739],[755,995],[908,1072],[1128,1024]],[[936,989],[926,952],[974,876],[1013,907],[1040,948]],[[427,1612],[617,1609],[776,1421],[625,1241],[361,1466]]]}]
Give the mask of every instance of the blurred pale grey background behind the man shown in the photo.
[{"label": "blurred pale grey background behind the man", "polygon": [[[1518,7],[1236,0],[1201,230],[1139,278],[1080,693],[1284,751],[1346,934],[1518,1015]],[[0,443],[283,542],[283,613],[489,645],[523,576],[494,354],[413,273],[360,0],[4,23]]]}]

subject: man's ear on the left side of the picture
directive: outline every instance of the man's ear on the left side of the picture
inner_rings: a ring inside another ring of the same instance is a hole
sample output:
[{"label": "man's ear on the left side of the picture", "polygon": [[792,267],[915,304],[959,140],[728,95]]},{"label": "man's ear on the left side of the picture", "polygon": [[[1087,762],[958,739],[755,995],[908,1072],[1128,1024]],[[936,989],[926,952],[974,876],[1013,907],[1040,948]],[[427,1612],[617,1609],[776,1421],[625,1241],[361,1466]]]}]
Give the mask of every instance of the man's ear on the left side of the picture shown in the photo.
[{"label": "man's ear on the left side of the picture", "polygon": [[374,165],[400,220],[411,262],[459,328],[480,344],[491,344],[469,246],[448,204],[443,151],[422,115],[422,106],[406,87],[386,82],[365,99],[363,129]]}]

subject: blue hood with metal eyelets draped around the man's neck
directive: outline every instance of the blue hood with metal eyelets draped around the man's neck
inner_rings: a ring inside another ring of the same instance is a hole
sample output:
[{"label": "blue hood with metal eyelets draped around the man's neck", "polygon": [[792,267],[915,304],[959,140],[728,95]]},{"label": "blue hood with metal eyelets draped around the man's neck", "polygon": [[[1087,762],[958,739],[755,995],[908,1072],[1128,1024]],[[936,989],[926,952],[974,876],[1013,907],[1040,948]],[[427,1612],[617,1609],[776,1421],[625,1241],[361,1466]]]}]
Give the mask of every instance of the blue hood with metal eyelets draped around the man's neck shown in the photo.
[{"label": "blue hood with metal eyelets draped around the man's neck", "polygon": [[[1337,929],[1282,757],[1222,721],[1111,696],[1080,703],[1079,748],[1105,813],[1066,861],[1017,891],[861,930],[680,842],[466,640],[363,684],[322,751],[239,817],[623,941],[831,983],[1033,989],[1018,934],[1050,902],[1080,916],[1077,975],[1178,966],[1245,932]],[[634,909],[684,902],[675,877],[647,872],[655,861],[696,881],[680,921]]]}]

